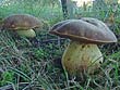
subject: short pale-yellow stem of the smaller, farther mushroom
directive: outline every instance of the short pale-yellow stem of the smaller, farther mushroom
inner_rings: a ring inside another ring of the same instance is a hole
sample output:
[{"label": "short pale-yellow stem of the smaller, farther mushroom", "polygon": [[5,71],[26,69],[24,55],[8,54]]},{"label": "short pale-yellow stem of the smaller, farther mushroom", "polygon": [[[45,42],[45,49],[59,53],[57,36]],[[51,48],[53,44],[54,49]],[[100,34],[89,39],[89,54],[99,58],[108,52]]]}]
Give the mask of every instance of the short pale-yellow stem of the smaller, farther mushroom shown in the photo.
[{"label": "short pale-yellow stem of the smaller, farther mushroom", "polygon": [[24,36],[24,37],[28,37],[28,38],[34,38],[36,37],[36,34],[33,29],[28,29],[28,30],[16,30],[17,35],[20,36]]}]

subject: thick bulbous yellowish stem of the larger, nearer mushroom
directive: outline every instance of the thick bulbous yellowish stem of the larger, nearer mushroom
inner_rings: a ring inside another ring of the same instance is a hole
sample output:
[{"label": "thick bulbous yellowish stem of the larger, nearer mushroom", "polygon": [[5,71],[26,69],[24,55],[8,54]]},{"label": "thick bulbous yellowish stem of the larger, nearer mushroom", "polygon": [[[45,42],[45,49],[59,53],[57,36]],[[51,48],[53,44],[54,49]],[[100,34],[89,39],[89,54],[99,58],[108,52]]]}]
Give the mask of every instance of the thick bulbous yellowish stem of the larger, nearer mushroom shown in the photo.
[{"label": "thick bulbous yellowish stem of the larger, nearer mushroom", "polygon": [[93,74],[103,62],[97,44],[71,41],[62,56],[63,68],[71,75],[82,72]]}]

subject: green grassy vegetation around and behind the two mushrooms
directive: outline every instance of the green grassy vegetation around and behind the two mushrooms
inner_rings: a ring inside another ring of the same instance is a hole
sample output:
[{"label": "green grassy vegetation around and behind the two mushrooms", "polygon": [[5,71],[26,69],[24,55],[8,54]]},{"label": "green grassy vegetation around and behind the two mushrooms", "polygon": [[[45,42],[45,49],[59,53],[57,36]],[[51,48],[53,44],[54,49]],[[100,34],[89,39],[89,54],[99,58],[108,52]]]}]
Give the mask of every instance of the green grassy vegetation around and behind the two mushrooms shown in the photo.
[{"label": "green grassy vegetation around and behind the two mushrooms", "polygon": [[[12,14],[31,14],[44,23],[34,42],[14,38],[7,30],[0,33],[0,90],[120,90],[120,3],[94,0],[77,7],[75,1],[67,0],[64,14],[61,1],[0,0],[0,26]],[[99,46],[105,56],[99,73],[76,81],[68,79],[60,64],[69,40],[49,35],[48,30],[62,20],[81,16],[105,22],[118,42]]]}]

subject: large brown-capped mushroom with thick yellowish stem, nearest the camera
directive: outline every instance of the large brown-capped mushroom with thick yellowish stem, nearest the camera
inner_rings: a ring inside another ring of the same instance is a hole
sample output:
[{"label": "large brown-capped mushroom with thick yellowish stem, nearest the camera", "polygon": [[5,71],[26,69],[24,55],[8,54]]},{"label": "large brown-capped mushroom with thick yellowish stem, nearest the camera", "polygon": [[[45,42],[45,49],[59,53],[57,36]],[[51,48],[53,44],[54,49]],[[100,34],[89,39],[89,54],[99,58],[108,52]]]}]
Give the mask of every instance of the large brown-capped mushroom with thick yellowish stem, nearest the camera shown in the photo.
[{"label": "large brown-capped mushroom with thick yellowish stem, nearest the camera", "polygon": [[49,33],[71,40],[62,55],[62,66],[70,75],[93,74],[104,60],[97,44],[117,42],[107,25],[93,17],[59,22]]}]

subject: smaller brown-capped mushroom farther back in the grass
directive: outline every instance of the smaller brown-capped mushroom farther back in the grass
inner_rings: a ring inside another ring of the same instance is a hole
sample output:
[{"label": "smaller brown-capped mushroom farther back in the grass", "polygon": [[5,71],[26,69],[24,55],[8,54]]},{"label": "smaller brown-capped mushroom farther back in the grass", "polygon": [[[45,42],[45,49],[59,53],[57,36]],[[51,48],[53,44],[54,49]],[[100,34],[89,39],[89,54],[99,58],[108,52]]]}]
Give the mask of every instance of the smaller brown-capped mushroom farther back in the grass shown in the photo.
[{"label": "smaller brown-capped mushroom farther back in the grass", "polygon": [[41,22],[28,14],[10,15],[3,20],[2,29],[11,29],[17,35],[25,37],[35,37],[34,28],[40,27]]}]

